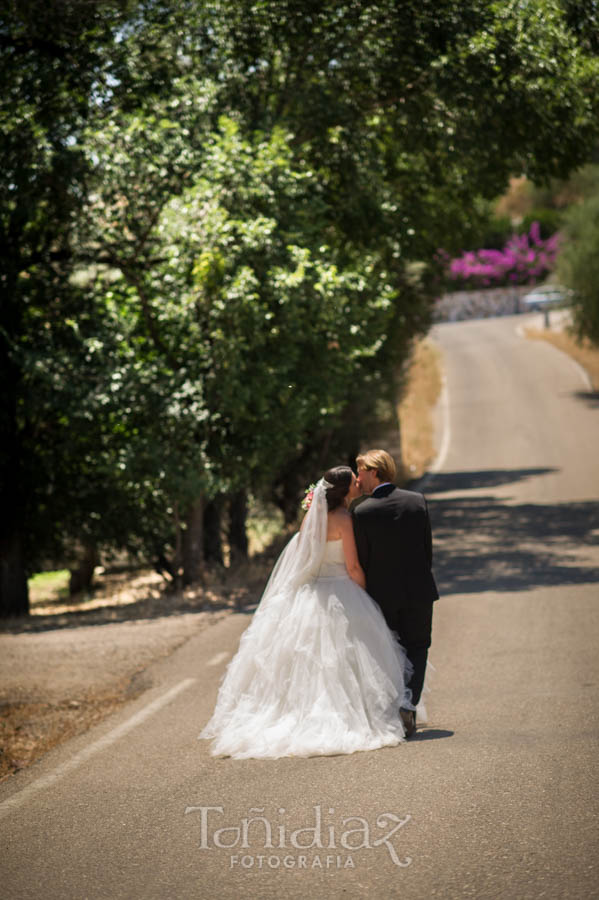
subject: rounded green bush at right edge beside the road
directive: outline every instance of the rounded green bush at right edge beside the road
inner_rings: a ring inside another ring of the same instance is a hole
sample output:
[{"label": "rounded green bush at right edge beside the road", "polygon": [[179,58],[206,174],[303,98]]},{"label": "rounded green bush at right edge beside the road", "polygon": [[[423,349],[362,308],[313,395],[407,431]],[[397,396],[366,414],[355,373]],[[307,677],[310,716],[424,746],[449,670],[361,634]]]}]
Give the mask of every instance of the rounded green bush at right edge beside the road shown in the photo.
[{"label": "rounded green bush at right edge beside the road", "polygon": [[574,326],[580,338],[589,338],[599,346],[598,193],[568,211],[564,238],[557,273],[574,292]]}]

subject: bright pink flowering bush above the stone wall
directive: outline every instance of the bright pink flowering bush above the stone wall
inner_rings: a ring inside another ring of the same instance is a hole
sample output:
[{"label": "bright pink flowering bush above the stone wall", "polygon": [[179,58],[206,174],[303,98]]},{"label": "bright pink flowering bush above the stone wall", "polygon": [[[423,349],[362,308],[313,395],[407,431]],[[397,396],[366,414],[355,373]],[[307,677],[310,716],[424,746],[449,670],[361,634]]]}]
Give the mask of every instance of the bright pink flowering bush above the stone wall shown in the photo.
[{"label": "bright pink flowering bush above the stone wall", "polygon": [[559,232],[543,240],[533,222],[528,234],[514,234],[503,250],[470,250],[455,259],[441,250],[438,260],[453,290],[536,284],[552,271],[559,241]]}]

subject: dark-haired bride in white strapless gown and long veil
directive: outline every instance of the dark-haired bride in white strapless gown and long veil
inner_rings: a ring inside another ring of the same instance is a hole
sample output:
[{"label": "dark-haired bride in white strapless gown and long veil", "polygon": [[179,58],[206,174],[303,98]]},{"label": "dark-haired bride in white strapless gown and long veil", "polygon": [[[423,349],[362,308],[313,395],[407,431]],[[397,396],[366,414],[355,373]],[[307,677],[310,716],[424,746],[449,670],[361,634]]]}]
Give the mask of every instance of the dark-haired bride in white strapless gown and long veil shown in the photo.
[{"label": "dark-haired bride in white strapless gown and long veil", "polygon": [[354,753],[404,740],[403,648],[364,590],[347,466],[329,469],[279,557],[200,734],[235,759]]}]

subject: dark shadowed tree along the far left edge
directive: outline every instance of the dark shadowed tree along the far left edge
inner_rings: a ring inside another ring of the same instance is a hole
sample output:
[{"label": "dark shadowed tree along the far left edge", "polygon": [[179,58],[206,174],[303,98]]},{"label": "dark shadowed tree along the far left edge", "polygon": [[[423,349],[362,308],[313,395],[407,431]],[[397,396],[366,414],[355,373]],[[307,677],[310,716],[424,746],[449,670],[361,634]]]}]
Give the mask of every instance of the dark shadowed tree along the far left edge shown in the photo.
[{"label": "dark shadowed tree along the far left edge", "polygon": [[55,348],[69,346],[65,320],[84,305],[69,283],[85,174],[77,136],[115,62],[107,50],[120,21],[117,3],[71,0],[11,2],[0,22],[2,615],[27,610],[36,548],[43,553],[55,533],[46,463],[60,443],[60,411],[55,405],[52,418],[40,420],[32,386]]}]

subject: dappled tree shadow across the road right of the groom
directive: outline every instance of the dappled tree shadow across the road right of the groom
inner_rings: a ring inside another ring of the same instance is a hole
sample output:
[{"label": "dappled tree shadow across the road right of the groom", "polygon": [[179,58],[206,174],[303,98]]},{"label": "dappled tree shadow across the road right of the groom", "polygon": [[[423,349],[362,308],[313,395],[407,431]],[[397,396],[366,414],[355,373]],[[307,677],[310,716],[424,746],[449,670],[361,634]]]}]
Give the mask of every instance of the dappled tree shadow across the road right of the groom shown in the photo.
[{"label": "dappled tree shadow across the road right of the groom", "polygon": [[[511,480],[543,471],[552,470],[516,470]],[[441,595],[599,583],[598,501],[512,504],[493,495],[437,497],[450,490],[506,484],[508,475],[435,476],[427,496]]]}]

